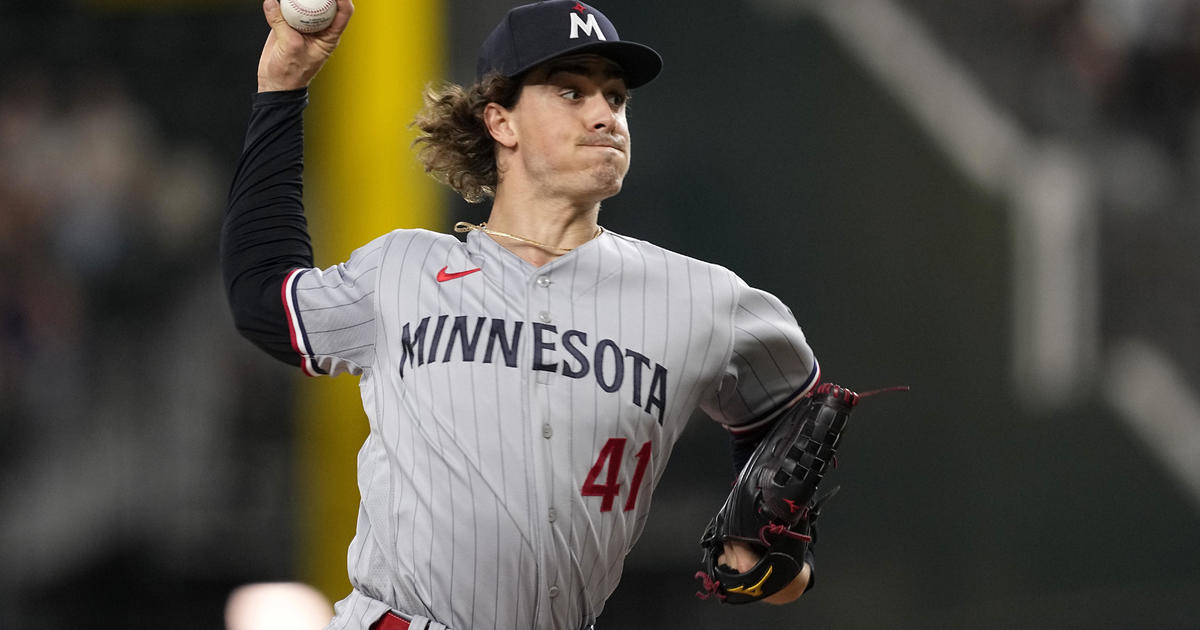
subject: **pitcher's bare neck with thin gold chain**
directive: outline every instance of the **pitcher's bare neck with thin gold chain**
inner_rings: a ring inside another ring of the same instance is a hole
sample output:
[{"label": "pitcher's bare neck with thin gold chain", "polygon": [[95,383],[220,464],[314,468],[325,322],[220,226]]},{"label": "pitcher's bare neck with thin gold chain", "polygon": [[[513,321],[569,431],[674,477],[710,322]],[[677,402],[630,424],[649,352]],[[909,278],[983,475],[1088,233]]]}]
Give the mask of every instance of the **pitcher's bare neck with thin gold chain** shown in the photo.
[{"label": "pitcher's bare neck with thin gold chain", "polygon": [[504,248],[534,266],[541,266],[594,239],[599,232],[599,202],[576,205],[552,199],[515,198],[497,191],[487,228],[492,230],[490,236]]}]

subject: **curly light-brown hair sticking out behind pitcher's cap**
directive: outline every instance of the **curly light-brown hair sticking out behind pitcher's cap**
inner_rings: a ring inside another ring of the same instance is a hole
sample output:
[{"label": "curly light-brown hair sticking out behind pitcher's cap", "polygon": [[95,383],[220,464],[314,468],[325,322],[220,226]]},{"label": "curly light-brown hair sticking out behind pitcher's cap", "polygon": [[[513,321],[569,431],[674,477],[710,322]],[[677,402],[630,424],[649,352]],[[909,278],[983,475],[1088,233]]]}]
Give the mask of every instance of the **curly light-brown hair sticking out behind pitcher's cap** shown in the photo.
[{"label": "curly light-brown hair sticking out behind pitcher's cap", "polygon": [[496,142],[484,124],[484,108],[497,103],[511,109],[521,94],[521,82],[491,73],[470,88],[455,83],[425,89],[425,108],[413,126],[420,134],[416,157],[433,179],[450,186],[469,203],[496,196],[499,172]]}]

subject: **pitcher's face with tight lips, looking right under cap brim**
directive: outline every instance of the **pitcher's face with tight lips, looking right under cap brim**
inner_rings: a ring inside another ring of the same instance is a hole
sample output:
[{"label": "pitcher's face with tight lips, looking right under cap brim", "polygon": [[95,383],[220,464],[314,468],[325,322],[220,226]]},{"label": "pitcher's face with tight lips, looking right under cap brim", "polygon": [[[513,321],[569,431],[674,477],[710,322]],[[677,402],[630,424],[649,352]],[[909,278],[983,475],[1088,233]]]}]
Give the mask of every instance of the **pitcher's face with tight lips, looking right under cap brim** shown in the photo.
[{"label": "pitcher's face with tight lips, looking right under cap brim", "polygon": [[581,200],[620,192],[630,160],[628,98],[620,68],[600,56],[560,58],[530,72],[512,115],[532,181]]}]

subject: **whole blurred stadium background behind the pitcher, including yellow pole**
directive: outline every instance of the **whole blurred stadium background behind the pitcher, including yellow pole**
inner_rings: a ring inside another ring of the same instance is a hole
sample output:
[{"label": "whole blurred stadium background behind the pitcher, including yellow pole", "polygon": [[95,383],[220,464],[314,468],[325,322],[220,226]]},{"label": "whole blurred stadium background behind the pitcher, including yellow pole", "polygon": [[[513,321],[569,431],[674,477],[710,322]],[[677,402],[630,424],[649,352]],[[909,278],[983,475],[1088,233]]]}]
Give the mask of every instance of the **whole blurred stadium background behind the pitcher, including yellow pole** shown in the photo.
[{"label": "whole blurred stadium background behind the pitcher, including yellow pole", "polygon": [[[312,90],[318,264],[484,217],[404,125],[508,6],[359,0]],[[601,222],[780,295],[828,378],[913,388],[859,412],[785,608],[692,596],[730,474],[697,418],[600,626],[1200,628],[1200,2],[600,8],[666,59]],[[254,0],[2,11],[0,628],[348,589],[354,384],[258,354],[220,287],[264,37]]]}]

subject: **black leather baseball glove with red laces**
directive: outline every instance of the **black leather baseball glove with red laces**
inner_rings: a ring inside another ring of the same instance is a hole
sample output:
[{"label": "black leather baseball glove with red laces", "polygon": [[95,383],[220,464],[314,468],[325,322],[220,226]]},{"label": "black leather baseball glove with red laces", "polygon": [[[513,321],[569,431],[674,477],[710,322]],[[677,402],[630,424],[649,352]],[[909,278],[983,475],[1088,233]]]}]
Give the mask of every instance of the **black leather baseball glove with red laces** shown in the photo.
[{"label": "black leather baseball glove with red laces", "polygon": [[[697,595],[749,604],[778,593],[800,574],[821,504],[833,494],[818,498],[817,487],[858,400],[841,385],[822,383],[758,443],[701,536],[703,570],[696,577],[703,590]],[[718,563],[727,541],[749,544],[761,559],[746,572]]]}]

